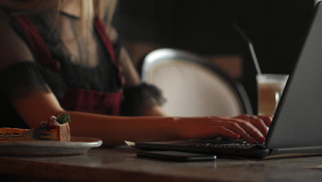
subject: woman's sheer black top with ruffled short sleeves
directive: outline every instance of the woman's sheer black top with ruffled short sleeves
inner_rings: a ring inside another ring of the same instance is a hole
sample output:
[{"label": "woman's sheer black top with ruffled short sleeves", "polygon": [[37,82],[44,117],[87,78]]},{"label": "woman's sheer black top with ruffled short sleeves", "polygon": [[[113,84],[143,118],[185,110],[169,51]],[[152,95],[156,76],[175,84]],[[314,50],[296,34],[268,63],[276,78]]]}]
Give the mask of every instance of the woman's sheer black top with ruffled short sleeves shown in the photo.
[{"label": "woman's sheer black top with ruffled short sleeves", "polygon": [[[25,43],[25,35],[17,22],[13,21],[8,12],[0,13],[0,26],[5,34],[0,35],[0,117],[10,119],[0,121],[0,127],[28,128],[19,114],[12,107],[12,99],[23,99],[34,89],[53,92],[58,101],[63,99],[66,88],[96,90],[100,92],[114,92],[120,89],[116,76],[116,69],[94,29],[89,30],[87,39],[71,39],[77,37],[77,17],[56,12],[28,14],[36,30],[45,41],[52,57],[61,63],[61,72],[57,73],[45,68],[32,55],[12,57],[12,44]],[[8,29],[8,34],[6,34]],[[63,33],[62,33],[63,32]],[[6,41],[10,34],[14,39]],[[66,34],[65,37],[61,35]],[[18,35],[18,36],[17,36]],[[69,37],[68,37],[69,35]],[[63,41],[63,39],[65,41]],[[19,48],[19,46],[17,46]],[[90,49],[95,48],[94,54]],[[8,49],[8,50],[6,50]],[[114,42],[116,58],[120,54],[120,41]],[[16,54],[25,54],[22,50],[15,50]],[[93,61],[96,60],[96,61]],[[122,99],[123,115],[133,115],[133,108],[140,104],[151,105],[164,101],[160,91],[153,85],[141,84],[126,88]],[[39,111],[41,112],[41,111]]]}]

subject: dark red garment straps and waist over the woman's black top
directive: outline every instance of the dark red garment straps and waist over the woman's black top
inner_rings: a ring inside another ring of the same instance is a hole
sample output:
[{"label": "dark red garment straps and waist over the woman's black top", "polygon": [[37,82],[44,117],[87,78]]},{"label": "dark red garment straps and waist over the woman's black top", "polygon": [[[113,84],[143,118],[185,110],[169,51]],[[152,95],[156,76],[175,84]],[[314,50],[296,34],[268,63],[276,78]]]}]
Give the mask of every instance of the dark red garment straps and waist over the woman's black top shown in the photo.
[{"label": "dark red garment straps and waist over the woman's black top", "polygon": [[[25,33],[28,45],[30,45],[30,48],[37,61],[39,61],[41,65],[50,68],[55,72],[60,72],[60,63],[53,59],[50,50],[47,49],[43,38],[34,28],[30,19],[23,16],[14,16],[14,19],[16,19],[16,21],[19,23],[19,26],[21,26],[21,29]],[[118,79],[122,83],[123,87],[123,85],[125,84],[125,79],[122,75],[122,68],[116,62],[114,48],[109,37],[107,36],[103,21],[96,18],[94,21],[94,28],[118,71]],[[120,115],[121,97],[122,88],[118,90],[118,92],[98,92],[95,90],[67,89],[60,103],[65,110],[118,116]]]}]

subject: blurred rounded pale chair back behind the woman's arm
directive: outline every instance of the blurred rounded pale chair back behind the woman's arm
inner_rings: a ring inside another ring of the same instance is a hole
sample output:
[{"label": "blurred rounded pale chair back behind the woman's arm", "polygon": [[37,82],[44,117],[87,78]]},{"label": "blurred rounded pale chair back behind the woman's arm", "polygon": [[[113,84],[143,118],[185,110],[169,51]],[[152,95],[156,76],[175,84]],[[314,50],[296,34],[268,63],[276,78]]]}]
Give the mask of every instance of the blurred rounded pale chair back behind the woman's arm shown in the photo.
[{"label": "blurred rounded pale chair back behind the woman's arm", "polygon": [[240,83],[206,63],[202,57],[183,50],[159,49],[147,54],[142,64],[142,81],[162,90],[169,116],[237,116],[253,114]]}]

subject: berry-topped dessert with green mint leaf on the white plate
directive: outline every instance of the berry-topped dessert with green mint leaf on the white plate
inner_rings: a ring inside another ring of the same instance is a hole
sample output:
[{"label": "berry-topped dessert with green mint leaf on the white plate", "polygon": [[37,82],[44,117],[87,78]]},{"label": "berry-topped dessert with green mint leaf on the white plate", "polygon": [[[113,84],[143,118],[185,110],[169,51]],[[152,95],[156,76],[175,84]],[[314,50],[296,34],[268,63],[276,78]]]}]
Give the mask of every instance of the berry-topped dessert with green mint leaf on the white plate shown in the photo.
[{"label": "berry-topped dessert with green mint leaf on the white plate", "polygon": [[35,129],[0,128],[0,141],[53,140],[70,141],[69,114],[52,116]]}]

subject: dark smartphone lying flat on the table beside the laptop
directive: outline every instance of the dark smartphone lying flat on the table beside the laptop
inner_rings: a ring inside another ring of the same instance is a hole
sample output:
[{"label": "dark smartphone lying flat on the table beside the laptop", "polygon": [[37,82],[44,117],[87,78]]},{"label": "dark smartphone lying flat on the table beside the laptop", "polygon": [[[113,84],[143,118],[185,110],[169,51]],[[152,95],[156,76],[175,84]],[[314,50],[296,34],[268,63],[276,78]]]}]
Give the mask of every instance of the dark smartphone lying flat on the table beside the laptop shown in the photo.
[{"label": "dark smartphone lying flat on the table beside the laptop", "polygon": [[160,159],[165,161],[178,161],[178,162],[189,162],[189,161],[214,161],[217,156],[208,154],[195,154],[189,152],[178,152],[178,151],[140,151],[136,153],[138,157]]}]

